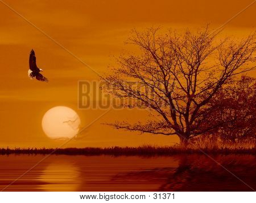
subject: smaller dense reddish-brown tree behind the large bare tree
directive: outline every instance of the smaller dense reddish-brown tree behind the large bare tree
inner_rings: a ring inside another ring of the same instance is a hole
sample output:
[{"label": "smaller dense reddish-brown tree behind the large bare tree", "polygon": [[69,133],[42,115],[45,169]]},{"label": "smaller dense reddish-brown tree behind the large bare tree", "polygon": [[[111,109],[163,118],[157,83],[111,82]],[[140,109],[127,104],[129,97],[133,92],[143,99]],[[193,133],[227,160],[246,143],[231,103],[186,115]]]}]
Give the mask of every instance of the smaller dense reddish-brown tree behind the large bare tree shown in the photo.
[{"label": "smaller dense reddish-brown tree behind the large bare tree", "polygon": [[205,119],[208,123],[220,123],[209,133],[224,142],[255,142],[256,133],[256,79],[242,76],[240,80],[230,82],[210,101],[216,106],[214,113]]}]

